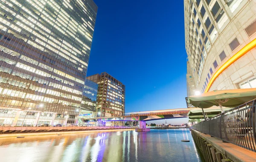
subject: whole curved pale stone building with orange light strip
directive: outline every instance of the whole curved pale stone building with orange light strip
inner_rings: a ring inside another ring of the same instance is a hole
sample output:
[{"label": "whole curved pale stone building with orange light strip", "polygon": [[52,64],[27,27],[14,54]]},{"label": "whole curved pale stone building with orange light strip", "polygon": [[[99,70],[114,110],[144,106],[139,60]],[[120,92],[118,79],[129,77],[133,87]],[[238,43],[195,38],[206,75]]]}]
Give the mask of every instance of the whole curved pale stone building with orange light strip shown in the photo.
[{"label": "whole curved pale stone building with orange light strip", "polygon": [[184,15],[188,95],[255,88],[256,1],[184,0]]}]

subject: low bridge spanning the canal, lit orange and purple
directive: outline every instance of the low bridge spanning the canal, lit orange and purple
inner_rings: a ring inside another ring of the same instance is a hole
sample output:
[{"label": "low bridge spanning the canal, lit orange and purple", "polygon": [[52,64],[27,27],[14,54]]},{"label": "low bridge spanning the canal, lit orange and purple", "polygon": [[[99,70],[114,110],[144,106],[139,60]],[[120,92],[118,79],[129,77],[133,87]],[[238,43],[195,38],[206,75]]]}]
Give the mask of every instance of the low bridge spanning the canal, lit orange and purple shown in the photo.
[{"label": "low bridge spanning the canal, lit orange and purple", "polygon": [[125,113],[124,116],[82,118],[85,122],[99,121],[151,121],[160,119],[187,118],[191,108],[167,109]]}]

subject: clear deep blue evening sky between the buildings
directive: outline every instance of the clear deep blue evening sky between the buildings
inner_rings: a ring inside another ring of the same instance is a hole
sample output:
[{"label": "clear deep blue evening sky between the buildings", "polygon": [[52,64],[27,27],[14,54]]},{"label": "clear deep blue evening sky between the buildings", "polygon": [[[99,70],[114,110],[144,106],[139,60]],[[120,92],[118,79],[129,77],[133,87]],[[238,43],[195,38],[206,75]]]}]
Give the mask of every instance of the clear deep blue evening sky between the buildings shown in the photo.
[{"label": "clear deep blue evening sky between the buildings", "polygon": [[126,113],[186,108],[183,0],[94,2],[99,8],[87,76],[107,72],[125,84]]}]

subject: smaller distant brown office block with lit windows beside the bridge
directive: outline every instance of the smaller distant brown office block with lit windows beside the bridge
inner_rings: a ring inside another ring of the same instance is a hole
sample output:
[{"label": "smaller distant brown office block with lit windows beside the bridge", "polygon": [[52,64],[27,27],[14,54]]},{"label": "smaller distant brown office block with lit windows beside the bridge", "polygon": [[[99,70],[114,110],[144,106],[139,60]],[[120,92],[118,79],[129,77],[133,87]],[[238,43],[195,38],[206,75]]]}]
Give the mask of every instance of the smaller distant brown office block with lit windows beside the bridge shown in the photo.
[{"label": "smaller distant brown office block with lit windows beside the bridge", "polygon": [[125,85],[106,72],[88,76],[99,84],[97,94],[97,116],[122,116],[125,113]]}]

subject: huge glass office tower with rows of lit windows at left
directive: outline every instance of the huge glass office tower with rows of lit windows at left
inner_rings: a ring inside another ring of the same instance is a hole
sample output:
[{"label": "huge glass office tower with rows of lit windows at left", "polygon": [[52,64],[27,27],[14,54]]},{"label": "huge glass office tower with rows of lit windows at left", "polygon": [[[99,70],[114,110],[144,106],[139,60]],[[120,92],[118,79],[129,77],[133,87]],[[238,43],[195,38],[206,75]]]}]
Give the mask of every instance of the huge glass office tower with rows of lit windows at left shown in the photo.
[{"label": "huge glass office tower with rows of lit windows at left", "polygon": [[75,123],[97,9],[93,0],[0,1],[0,122]]}]

